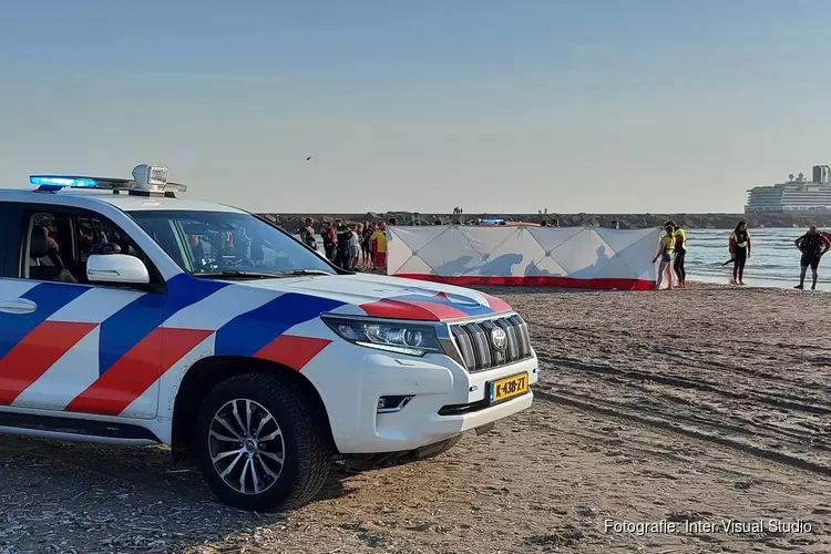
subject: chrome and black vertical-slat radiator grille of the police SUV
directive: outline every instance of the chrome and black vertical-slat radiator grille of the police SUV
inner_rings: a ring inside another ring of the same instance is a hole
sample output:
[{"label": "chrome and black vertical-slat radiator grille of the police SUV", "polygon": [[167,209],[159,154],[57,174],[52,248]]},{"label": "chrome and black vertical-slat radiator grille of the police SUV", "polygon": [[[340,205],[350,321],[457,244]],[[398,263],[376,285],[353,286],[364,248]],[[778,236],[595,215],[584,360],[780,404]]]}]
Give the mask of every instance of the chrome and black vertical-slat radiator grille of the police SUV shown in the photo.
[{"label": "chrome and black vertical-slat radiator grille of the police SUV", "polygon": [[[493,343],[493,330],[496,328],[505,331],[507,337],[504,350],[496,349]],[[520,316],[453,325],[451,331],[459,353],[471,372],[506,366],[532,356],[529,327]]]}]

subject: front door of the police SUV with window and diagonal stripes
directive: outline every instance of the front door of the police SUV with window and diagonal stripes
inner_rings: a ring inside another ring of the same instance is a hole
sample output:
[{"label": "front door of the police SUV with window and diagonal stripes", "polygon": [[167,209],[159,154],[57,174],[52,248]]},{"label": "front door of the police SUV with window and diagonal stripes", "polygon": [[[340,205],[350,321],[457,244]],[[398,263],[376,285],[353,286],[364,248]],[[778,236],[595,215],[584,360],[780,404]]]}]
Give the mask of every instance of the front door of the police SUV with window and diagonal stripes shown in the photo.
[{"label": "front door of the police SUV with window and diagonal stripes", "polygon": [[14,214],[4,259],[16,263],[4,265],[0,288],[0,406],[154,418],[164,295],[85,278],[90,239],[120,229],[47,204]]}]

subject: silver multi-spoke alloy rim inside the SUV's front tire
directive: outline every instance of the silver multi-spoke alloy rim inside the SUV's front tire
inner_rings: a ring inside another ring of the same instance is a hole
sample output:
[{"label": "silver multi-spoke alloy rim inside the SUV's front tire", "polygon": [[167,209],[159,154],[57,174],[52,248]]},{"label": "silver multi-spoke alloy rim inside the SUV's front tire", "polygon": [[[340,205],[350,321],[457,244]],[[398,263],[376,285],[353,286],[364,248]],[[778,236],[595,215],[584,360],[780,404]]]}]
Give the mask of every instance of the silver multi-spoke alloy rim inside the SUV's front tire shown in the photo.
[{"label": "silver multi-spoke alloy rim inside the SUV's front tire", "polygon": [[279,479],[286,443],[268,410],[254,400],[235,399],[214,414],[208,452],[226,485],[243,494],[260,494]]}]

